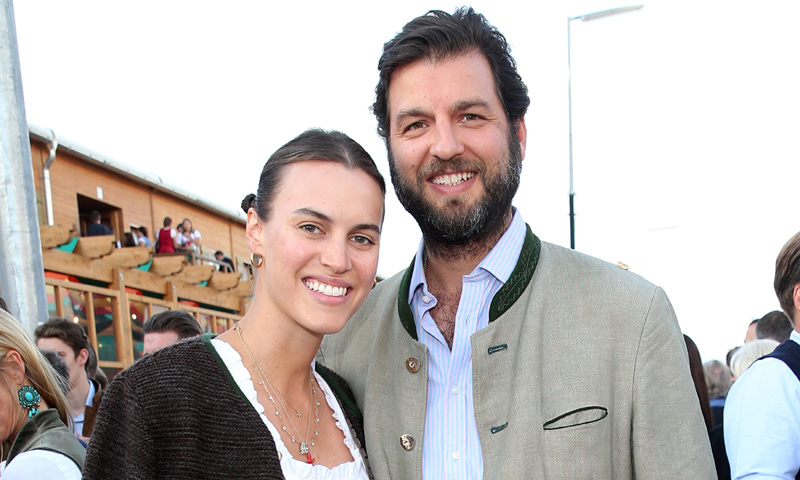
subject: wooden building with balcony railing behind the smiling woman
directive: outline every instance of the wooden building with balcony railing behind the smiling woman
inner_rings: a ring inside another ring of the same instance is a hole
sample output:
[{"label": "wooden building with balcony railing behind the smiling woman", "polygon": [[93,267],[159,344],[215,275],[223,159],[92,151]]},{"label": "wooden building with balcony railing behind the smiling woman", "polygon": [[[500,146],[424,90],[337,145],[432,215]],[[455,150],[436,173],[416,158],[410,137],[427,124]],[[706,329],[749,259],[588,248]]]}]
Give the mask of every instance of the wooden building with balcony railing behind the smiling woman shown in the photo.
[{"label": "wooden building with balcony railing behind the smiling woman", "polygon": [[[181,308],[206,331],[230,328],[252,292],[242,213],[198,198],[160,178],[30,126],[36,202],[51,317],[86,327],[108,373],[141,352],[142,323]],[[113,235],[85,237],[92,211]],[[153,248],[117,248],[144,226],[155,242],[164,217],[173,227],[190,218],[202,247],[189,255],[157,255]],[[233,259],[236,272],[217,270],[214,252]]]}]

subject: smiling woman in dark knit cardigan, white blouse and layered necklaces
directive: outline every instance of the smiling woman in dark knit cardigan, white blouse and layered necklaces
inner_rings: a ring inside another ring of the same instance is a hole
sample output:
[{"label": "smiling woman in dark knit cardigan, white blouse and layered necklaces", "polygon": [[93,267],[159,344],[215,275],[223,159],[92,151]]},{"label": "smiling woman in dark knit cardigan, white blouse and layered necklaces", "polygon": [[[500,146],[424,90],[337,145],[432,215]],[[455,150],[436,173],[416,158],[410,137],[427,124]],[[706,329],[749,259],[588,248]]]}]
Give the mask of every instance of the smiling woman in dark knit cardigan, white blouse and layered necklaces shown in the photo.
[{"label": "smiling woman in dark knit cardigan, white blouse and layered necklaces", "polygon": [[373,285],[385,191],[342,133],[309,130],[276,151],[242,202],[257,271],[247,314],[117,376],[84,478],[370,478],[361,412],[314,356]]}]

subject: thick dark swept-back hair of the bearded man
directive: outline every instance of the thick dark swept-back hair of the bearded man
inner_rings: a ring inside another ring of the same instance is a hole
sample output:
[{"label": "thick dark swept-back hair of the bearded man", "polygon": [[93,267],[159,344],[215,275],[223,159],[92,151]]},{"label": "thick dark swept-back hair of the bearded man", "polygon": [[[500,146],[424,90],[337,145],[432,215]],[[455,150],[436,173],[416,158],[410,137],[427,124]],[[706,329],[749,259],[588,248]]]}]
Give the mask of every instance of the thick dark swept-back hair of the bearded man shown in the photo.
[{"label": "thick dark swept-back hair of the bearded man", "polygon": [[452,15],[431,10],[408,22],[403,31],[383,45],[378,60],[380,80],[375,87],[372,113],[378,119],[378,134],[389,138],[389,82],[394,71],[426,59],[434,62],[470,52],[481,53],[489,61],[495,88],[511,128],[525,116],[531,103],[528,88],[517,73],[506,38],[472,8],[462,7]]}]

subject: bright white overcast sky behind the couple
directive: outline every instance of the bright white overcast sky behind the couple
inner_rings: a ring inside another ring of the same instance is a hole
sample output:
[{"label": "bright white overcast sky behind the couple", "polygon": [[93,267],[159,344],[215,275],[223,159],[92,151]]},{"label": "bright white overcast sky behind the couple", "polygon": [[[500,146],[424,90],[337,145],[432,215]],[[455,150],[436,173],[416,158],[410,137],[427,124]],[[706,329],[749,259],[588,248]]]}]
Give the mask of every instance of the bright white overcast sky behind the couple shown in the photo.
[{"label": "bright white overcast sky behind the couple", "polygon": [[[28,121],[231,210],[309,127],[346,132],[388,179],[369,112],[381,47],[457,4],[276,3],[17,1]],[[515,205],[569,246],[567,17],[625,3],[472,5],[532,99]],[[661,0],[572,22],[577,248],[663,286],[704,360],[779,308],[775,256],[800,229],[797,18],[793,0]],[[418,241],[390,193],[379,273]]]}]

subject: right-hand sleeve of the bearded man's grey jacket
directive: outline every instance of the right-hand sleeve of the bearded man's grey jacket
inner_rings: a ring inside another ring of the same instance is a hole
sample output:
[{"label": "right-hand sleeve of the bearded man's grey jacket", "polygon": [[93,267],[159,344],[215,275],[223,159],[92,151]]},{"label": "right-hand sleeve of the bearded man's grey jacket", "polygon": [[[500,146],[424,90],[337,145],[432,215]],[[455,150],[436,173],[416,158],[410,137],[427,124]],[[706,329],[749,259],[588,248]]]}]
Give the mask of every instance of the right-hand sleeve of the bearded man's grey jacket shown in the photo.
[{"label": "right-hand sleeve of the bearded man's grey jacket", "polygon": [[686,345],[666,294],[656,288],[633,379],[636,478],[717,478]]}]

